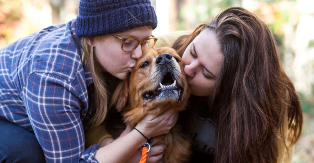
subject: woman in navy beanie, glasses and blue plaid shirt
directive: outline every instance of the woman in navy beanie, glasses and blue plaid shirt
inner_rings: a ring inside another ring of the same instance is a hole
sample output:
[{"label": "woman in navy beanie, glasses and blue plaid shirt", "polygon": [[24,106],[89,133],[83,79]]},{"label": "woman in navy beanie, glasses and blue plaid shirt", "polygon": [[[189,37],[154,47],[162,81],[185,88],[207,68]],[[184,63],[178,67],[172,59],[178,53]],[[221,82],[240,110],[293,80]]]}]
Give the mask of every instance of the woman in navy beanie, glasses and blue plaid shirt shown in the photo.
[{"label": "woman in navy beanie, glasses and blue plaid shirt", "polygon": [[[85,148],[84,130],[101,124],[116,81],[154,46],[149,0],[81,0],[76,19],[0,50],[0,162],[123,162],[169,132],[178,113],[148,115],[124,136]],[[162,157],[153,146],[149,161]]]}]

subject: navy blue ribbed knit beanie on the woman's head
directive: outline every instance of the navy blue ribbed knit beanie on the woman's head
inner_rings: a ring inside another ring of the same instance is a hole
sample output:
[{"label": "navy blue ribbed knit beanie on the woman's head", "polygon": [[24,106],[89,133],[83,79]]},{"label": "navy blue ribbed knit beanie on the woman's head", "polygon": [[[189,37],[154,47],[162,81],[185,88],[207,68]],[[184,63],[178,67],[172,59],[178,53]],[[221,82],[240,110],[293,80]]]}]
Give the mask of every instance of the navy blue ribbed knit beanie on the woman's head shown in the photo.
[{"label": "navy blue ribbed knit beanie on the woman's head", "polygon": [[141,26],[157,26],[149,0],[80,0],[75,31],[79,37],[95,37]]}]

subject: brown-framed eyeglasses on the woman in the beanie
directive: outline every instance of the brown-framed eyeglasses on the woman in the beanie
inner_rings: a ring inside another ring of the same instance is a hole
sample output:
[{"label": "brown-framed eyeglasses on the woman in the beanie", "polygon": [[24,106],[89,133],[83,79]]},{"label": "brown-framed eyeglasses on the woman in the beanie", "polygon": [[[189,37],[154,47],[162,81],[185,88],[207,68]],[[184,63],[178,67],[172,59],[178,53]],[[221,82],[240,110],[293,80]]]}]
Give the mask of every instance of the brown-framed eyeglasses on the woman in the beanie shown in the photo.
[{"label": "brown-framed eyeglasses on the woman in the beanie", "polygon": [[116,35],[111,35],[117,39],[122,41],[121,49],[125,52],[131,52],[135,50],[139,44],[142,46],[142,50],[146,48],[153,48],[156,44],[157,38],[151,35],[148,39],[144,39],[143,41],[138,41],[137,39],[132,38],[122,38]]}]

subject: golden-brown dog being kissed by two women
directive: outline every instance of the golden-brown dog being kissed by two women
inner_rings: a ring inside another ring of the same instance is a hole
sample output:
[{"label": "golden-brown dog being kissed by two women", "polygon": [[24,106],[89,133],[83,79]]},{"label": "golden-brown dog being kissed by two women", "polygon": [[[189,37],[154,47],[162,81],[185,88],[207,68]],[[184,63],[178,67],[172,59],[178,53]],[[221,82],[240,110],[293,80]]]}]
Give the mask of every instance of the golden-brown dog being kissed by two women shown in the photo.
[{"label": "golden-brown dog being kissed by two women", "polygon": [[[118,85],[112,97],[124,122],[134,128],[146,114],[159,114],[167,108],[185,109],[190,93],[183,68],[181,57],[172,48],[143,51],[131,76]],[[159,142],[167,145],[165,163],[188,160],[190,143],[178,125]]]}]

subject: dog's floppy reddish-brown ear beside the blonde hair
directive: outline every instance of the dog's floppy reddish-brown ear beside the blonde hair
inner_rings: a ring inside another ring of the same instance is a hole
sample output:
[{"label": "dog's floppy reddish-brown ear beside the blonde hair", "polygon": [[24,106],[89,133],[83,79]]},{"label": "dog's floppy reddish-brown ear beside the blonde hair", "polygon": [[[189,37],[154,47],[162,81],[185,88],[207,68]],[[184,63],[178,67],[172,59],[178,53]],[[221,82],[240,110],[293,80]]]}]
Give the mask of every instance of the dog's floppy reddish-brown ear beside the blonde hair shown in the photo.
[{"label": "dog's floppy reddish-brown ear beside the blonde hair", "polygon": [[118,112],[120,112],[127,104],[128,93],[129,93],[129,77],[121,81],[116,87],[115,92],[112,95],[110,107],[116,106]]}]

